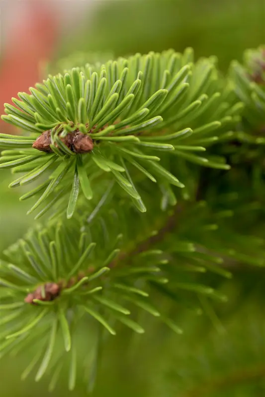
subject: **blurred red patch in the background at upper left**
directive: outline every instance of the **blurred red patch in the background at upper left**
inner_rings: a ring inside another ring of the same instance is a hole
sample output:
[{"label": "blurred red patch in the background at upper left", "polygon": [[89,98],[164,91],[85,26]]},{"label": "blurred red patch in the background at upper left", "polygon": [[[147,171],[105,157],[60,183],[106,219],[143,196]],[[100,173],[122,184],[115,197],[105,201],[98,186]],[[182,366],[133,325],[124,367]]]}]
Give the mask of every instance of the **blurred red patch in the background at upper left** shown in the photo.
[{"label": "blurred red patch in the background at upper left", "polygon": [[[14,18],[0,65],[0,114],[17,92],[26,91],[40,80],[40,65],[49,60],[58,35],[58,18],[45,0],[23,1],[21,18]],[[15,133],[0,120],[0,131]]]}]

